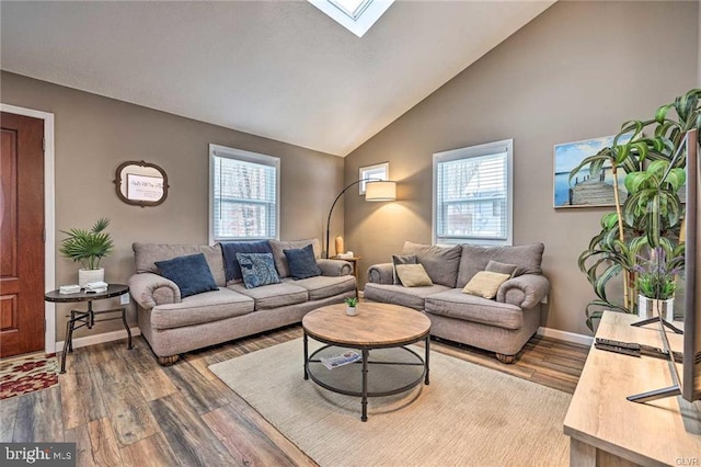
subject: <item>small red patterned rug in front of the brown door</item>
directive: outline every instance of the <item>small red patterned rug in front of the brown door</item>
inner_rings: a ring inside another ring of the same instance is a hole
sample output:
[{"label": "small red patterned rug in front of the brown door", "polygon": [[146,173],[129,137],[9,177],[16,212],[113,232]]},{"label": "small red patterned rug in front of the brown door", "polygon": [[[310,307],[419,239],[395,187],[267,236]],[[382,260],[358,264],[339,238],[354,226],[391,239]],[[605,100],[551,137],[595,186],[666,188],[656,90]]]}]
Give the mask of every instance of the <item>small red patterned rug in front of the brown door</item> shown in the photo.
[{"label": "small red patterned rug in front of the brown door", "polygon": [[0,361],[0,400],[58,384],[55,356],[34,354]]}]

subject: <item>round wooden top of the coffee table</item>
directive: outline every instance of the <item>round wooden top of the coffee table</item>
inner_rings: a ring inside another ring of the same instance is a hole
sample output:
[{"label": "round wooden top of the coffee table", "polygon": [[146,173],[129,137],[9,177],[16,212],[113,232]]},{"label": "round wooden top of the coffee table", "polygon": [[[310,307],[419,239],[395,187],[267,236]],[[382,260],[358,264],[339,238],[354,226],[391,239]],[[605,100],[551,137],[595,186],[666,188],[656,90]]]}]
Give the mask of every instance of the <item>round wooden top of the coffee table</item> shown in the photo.
[{"label": "round wooden top of the coffee table", "polygon": [[430,320],[399,305],[359,303],[356,316],[345,304],[329,305],[302,318],[304,331],[324,342],[359,346],[392,346],[416,342],[428,334]]}]

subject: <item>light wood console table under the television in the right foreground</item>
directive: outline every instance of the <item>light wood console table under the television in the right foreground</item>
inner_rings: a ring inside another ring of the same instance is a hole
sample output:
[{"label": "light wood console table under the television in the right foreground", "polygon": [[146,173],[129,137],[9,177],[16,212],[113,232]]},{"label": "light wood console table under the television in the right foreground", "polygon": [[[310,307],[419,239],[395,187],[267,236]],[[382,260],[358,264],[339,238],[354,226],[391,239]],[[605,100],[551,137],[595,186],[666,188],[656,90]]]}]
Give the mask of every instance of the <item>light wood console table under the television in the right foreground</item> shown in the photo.
[{"label": "light wood console table under the television in the right foreground", "polygon": [[[630,326],[639,319],[606,311],[596,335],[662,348],[658,326]],[[681,351],[681,335],[669,342]],[[701,466],[701,401],[625,399],[671,386],[669,365],[591,348],[564,421],[571,466]]]}]

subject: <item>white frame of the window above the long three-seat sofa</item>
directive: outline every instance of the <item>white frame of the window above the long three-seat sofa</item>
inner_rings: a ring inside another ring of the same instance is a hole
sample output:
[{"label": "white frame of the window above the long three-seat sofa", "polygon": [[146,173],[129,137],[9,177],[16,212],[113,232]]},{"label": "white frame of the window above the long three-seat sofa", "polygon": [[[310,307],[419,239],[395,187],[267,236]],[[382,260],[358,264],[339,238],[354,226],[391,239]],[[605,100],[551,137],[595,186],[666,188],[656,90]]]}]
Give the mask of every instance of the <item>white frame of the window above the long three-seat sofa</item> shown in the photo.
[{"label": "white frame of the window above the long three-seat sofa", "polygon": [[[226,237],[218,238],[215,236],[215,160],[216,158],[227,158],[240,160],[243,162],[256,163],[275,168],[275,235],[265,237]],[[220,145],[209,145],[209,244],[219,241],[238,241],[238,240],[279,240],[280,236],[280,159],[273,156],[262,155],[257,152],[244,151],[242,149],[229,148]]]}]

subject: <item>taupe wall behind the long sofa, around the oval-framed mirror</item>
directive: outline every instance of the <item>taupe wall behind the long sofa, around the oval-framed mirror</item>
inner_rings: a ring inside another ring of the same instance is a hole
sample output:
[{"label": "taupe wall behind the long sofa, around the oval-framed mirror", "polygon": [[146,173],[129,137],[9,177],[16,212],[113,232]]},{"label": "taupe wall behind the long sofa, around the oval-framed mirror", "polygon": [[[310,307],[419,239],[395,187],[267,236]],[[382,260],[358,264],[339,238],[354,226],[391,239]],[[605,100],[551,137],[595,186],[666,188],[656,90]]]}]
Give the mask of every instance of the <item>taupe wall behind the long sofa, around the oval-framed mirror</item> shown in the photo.
[{"label": "taupe wall behind the long sofa, around the oval-framed mirror", "polygon": [[[207,243],[210,143],[280,158],[281,239],[321,238],[330,200],[343,187],[344,162],[334,156],[13,73],[0,78],[2,103],[55,115],[57,251],[60,230],[90,228],[103,216],[112,220],[108,231],[116,249],[102,262],[107,282],[126,283],[133,274],[135,241]],[[119,201],[113,180],[127,160],[165,170],[165,203],[142,208]],[[57,253],[57,285],[77,283],[77,264]],[[58,340],[64,339],[69,309],[57,307]],[[81,330],[77,337],[115,329],[120,329],[118,321]]]}]

